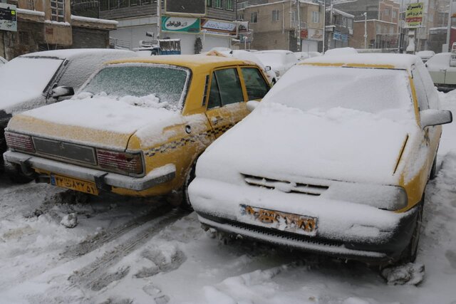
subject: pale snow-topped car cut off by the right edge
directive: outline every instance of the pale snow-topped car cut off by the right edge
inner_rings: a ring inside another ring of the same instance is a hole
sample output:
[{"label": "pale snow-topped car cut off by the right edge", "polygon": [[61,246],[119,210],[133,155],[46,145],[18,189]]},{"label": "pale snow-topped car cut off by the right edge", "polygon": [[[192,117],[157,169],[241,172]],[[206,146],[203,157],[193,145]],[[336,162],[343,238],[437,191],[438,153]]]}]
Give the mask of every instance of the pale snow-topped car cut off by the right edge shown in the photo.
[{"label": "pale snow-topped car cut off by the right edge", "polygon": [[427,70],[439,90],[456,88],[456,66],[452,66],[451,53],[437,53],[426,62]]}]

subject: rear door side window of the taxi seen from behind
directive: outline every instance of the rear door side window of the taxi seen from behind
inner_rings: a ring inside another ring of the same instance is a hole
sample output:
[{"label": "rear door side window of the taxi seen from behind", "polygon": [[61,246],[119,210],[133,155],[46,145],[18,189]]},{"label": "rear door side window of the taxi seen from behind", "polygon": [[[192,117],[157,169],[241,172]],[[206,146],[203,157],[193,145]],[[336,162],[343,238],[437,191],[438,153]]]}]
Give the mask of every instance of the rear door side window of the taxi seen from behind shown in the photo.
[{"label": "rear door side window of the taxi seen from behind", "polygon": [[207,108],[240,103],[244,101],[241,80],[236,68],[216,70],[212,74],[211,90]]}]

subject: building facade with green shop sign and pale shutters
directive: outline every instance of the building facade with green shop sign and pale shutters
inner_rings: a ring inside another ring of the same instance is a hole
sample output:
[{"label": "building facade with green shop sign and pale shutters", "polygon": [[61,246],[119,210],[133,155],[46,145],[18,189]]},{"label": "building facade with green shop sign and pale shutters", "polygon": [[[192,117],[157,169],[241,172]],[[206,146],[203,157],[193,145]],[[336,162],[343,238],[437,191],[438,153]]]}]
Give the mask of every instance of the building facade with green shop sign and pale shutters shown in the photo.
[{"label": "building facade with green shop sign and pale shutters", "polygon": [[[174,0],[167,0],[168,2]],[[237,7],[235,0],[206,0],[203,14],[167,14],[165,1],[100,0],[100,18],[118,21],[110,33],[125,48],[138,48],[141,41],[152,38],[180,39],[182,53],[195,53],[198,41],[202,51],[222,46],[239,45],[237,38]],[[157,12],[160,11],[160,14]],[[192,23],[188,28],[174,29],[173,23]],[[152,37],[152,38],[150,38]]]}]

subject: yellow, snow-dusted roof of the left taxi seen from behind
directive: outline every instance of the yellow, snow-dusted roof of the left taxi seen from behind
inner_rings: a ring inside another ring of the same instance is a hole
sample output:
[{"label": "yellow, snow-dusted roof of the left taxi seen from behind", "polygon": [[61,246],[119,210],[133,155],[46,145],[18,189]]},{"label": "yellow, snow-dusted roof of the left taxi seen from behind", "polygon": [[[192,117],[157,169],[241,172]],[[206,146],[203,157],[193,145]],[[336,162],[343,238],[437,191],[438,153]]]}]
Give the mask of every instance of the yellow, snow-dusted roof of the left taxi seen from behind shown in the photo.
[{"label": "yellow, snow-dusted roof of the left taxi seen from behind", "polygon": [[205,56],[205,55],[162,55],[150,57],[138,57],[129,59],[120,59],[108,62],[115,63],[159,63],[177,65],[195,70],[196,68],[217,68],[226,65],[252,65],[252,61],[242,61],[232,57],[225,56]]}]

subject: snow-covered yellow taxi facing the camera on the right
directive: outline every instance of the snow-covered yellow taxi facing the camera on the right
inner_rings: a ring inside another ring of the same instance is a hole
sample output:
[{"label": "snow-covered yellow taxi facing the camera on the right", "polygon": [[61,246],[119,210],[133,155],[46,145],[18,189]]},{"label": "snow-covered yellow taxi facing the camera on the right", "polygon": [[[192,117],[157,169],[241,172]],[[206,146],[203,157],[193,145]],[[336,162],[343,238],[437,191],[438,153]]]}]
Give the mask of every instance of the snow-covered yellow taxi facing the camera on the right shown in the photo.
[{"label": "snow-covered yellow taxi facing the camera on the right", "polygon": [[452,121],[438,99],[417,56],[308,59],[199,157],[191,204],[224,234],[413,261],[440,125]]}]

